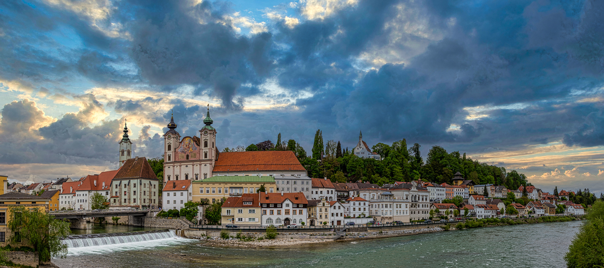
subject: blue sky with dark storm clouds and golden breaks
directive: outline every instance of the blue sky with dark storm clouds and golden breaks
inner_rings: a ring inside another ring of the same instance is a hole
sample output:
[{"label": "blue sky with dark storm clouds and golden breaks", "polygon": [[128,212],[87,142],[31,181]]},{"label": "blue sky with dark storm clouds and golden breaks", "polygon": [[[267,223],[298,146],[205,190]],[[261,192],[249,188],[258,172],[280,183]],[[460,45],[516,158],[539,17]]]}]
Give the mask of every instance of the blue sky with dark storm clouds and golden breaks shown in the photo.
[{"label": "blue sky with dark storm clouds and golden breaks", "polygon": [[0,174],[162,155],[173,113],[217,146],[418,142],[604,191],[604,1],[0,1]]}]

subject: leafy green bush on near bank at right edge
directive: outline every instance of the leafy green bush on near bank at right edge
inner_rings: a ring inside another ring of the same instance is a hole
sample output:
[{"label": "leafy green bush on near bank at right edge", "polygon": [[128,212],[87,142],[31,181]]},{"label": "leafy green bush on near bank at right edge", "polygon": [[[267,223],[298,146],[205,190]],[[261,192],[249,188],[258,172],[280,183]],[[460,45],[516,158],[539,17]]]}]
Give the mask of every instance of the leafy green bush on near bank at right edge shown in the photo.
[{"label": "leafy green bush on near bank at right edge", "polygon": [[568,246],[568,268],[604,267],[604,202],[587,209],[587,221]]}]

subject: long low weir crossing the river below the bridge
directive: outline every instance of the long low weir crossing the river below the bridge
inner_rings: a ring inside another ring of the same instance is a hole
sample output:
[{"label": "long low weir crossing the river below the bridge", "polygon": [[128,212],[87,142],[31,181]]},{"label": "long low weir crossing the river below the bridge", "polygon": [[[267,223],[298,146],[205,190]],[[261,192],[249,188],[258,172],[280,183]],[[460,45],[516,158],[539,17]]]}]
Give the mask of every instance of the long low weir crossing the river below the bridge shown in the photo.
[{"label": "long low weir crossing the river below the bridge", "polygon": [[69,235],[63,239],[63,243],[67,244],[69,248],[74,248],[151,241],[175,236],[174,230],[165,229],[140,232],[118,232],[111,234]]}]

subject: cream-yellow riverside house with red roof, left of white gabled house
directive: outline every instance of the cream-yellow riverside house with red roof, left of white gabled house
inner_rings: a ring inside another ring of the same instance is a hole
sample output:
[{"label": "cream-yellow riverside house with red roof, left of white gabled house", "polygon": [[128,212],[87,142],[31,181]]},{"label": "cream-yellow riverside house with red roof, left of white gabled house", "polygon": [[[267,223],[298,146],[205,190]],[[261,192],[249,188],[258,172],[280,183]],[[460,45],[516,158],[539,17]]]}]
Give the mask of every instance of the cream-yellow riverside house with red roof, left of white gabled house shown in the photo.
[{"label": "cream-yellow riverside house with red roof, left of white gabled house", "polygon": [[222,204],[222,225],[260,226],[260,205],[258,194],[243,194],[229,197]]}]

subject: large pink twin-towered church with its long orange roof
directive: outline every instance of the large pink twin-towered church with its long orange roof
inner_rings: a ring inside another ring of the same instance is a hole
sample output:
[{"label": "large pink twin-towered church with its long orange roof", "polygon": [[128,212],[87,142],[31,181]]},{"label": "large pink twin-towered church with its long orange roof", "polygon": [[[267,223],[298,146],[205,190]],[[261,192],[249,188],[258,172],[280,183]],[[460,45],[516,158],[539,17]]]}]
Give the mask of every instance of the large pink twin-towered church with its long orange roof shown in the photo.
[{"label": "large pink twin-towered church with its long orange roof", "polygon": [[214,120],[210,118],[209,104],[203,123],[205,126],[199,130],[199,136],[181,138],[176,131],[174,116],[170,117],[169,130],[164,134],[164,182],[203,180],[212,176],[279,176],[287,177],[283,178],[287,184],[288,179],[310,180],[300,161],[289,151],[220,153],[216,147],[218,133],[212,127]]}]

